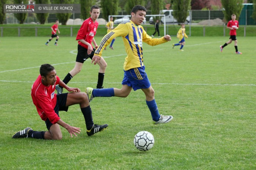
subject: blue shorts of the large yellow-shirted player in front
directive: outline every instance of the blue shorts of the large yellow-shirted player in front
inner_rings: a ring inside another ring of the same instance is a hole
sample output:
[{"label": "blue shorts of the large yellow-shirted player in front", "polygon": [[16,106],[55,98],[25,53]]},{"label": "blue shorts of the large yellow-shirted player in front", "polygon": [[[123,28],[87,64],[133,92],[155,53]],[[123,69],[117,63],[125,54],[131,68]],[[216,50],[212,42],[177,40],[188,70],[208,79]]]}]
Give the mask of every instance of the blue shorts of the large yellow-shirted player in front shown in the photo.
[{"label": "blue shorts of the large yellow-shirted player in front", "polygon": [[141,88],[149,88],[151,83],[149,82],[147,73],[145,72],[145,66],[124,71],[122,85],[132,87],[134,91]]}]

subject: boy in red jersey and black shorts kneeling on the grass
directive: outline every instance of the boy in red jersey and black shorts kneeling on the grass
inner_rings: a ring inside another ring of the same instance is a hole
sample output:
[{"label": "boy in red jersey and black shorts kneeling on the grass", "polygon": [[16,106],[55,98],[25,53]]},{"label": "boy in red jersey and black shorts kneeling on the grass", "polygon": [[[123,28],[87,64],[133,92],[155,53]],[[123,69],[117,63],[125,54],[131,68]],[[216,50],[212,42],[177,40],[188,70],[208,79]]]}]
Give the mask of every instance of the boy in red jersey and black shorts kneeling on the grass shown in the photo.
[{"label": "boy in red jersey and black shorts kneeling on the grass", "polygon": [[[56,84],[62,85],[66,90],[73,93],[55,94]],[[97,125],[93,123],[90,103],[86,93],[80,92],[79,88],[68,87],[63,83],[57,76],[55,68],[50,64],[41,65],[40,75],[31,88],[31,97],[39,116],[45,121],[48,131],[33,131],[30,127],[27,127],[14,134],[13,138],[61,140],[60,125],[68,130],[71,137],[72,134],[77,136],[76,133],[80,133],[80,128],[67,124],[59,116],[59,111],[68,111],[68,107],[74,104],[80,105],[85,118],[88,136],[108,127],[107,124]]]}]

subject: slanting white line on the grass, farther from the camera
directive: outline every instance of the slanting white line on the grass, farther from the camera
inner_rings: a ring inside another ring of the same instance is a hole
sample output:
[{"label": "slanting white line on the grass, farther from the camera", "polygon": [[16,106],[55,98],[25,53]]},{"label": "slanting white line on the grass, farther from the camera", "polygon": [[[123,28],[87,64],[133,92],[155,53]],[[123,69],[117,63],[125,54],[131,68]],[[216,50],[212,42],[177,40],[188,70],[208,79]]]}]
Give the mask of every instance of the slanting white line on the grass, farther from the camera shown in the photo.
[{"label": "slanting white line on the grass, farther from the camera", "polygon": [[[206,44],[219,43],[219,42],[223,42],[223,41],[208,42],[208,43],[201,43],[201,44],[194,44],[194,45],[186,45],[186,46],[206,45]],[[146,51],[146,52],[158,51],[158,50],[163,50],[163,49],[164,49],[164,48],[157,48],[157,49],[154,49],[154,50],[148,50],[148,51]],[[77,50],[69,51],[69,53],[77,55],[77,53],[74,53],[74,51],[77,51]],[[127,55],[127,54],[118,54],[118,55],[114,55],[114,56],[103,56],[103,57],[104,57],[104,58],[110,58],[110,57],[118,57],[118,56],[126,56],[126,55]],[[57,64],[52,64],[52,65],[61,65],[61,64],[69,64],[69,63],[74,63],[74,61],[73,61],[73,62],[65,62],[65,63],[57,63]],[[40,67],[40,66],[27,67],[27,68],[20,68],[20,69],[16,69],[16,70],[5,70],[5,71],[0,71],[0,73],[5,73],[5,72],[9,72],[9,71],[27,70],[27,69],[39,68],[39,67]]]}]

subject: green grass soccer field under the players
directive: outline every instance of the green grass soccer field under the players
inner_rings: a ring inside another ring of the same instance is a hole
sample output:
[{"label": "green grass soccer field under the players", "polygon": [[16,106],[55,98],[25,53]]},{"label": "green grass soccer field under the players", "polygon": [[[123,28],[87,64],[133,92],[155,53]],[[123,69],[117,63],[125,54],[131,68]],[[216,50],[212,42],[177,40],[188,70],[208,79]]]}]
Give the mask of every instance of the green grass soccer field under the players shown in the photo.
[{"label": "green grass soccer field under the players", "polygon": [[[99,44],[102,37],[96,37]],[[237,37],[220,53],[227,37],[189,37],[184,51],[176,37],[171,42],[143,44],[146,72],[155,90],[160,114],[172,115],[168,124],[153,125],[141,90],[127,98],[98,97],[91,102],[94,123],[105,131],[87,136],[79,105],[60,112],[81,134],[71,138],[61,127],[61,141],[12,139],[25,127],[46,131],[33,105],[31,85],[39,66],[55,66],[58,76],[74,67],[74,37],[1,37],[0,40],[0,169],[256,169],[256,57],[255,37]],[[104,88],[121,88],[126,53],[118,37],[114,50],[107,47]],[[86,61],[68,84],[84,91],[96,87],[99,66]],[[64,91],[66,92],[66,91]],[[139,131],[154,135],[155,145],[137,150],[133,137]]]}]

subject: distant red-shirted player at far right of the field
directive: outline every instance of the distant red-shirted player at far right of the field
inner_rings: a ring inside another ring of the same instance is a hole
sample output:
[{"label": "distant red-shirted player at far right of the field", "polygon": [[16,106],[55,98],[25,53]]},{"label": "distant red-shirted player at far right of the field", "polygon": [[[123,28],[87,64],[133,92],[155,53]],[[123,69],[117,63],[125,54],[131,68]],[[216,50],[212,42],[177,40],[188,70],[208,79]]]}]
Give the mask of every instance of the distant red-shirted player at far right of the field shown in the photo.
[{"label": "distant red-shirted player at far right of the field", "polygon": [[230,29],[229,31],[229,35],[230,35],[230,38],[229,38],[229,41],[226,42],[224,45],[221,45],[220,46],[220,51],[222,52],[223,48],[225,46],[227,46],[228,44],[230,44],[232,41],[235,42],[235,49],[236,49],[236,54],[242,54],[241,52],[238,51],[237,49],[237,39],[236,39],[236,30],[239,28],[239,23],[238,21],[236,20],[236,15],[235,14],[232,14],[231,15],[231,18],[232,20],[230,20],[228,22],[228,25],[227,25],[227,28]]}]

